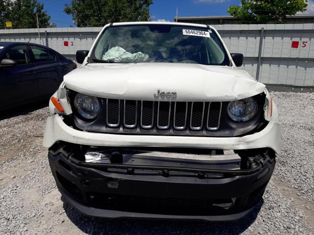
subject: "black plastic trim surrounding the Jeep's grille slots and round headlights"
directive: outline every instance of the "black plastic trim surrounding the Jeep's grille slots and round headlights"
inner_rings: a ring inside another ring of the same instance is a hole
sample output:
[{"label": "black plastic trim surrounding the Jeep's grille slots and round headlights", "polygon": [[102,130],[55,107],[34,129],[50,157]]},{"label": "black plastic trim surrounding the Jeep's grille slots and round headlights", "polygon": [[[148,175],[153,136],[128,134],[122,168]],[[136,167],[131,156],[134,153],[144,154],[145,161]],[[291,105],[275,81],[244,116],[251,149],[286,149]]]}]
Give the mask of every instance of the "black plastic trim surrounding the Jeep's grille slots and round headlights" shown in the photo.
[{"label": "black plastic trim surrounding the Jeep's grille slots and round headlights", "polygon": [[[69,98],[71,105],[73,105],[73,98],[77,92],[69,91]],[[261,131],[266,125],[267,121],[264,119],[264,100],[265,100],[265,94],[258,94],[253,96],[253,98],[257,101],[259,110],[258,113],[255,115],[254,118],[252,118],[249,121],[245,122],[236,122],[232,120],[227,112],[227,106],[229,102],[222,102],[222,109],[221,109],[221,116],[220,116],[220,122],[219,122],[219,129],[218,130],[208,130],[207,129],[207,114],[209,109],[209,102],[205,102],[205,110],[204,110],[204,121],[202,129],[200,130],[192,130],[190,128],[190,112],[191,112],[191,106],[192,102],[188,102],[187,107],[187,119],[186,119],[186,126],[182,130],[177,130],[174,127],[174,102],[171,104],[171,118],[170,118],[170,126],[166,130],[158,129],[157,128],[157,109],[158,109],[158,101],[155,102],[154,105],[154,124],[152,128],[142,128],[139,123],[141,123],[140,116],[141,116],[141,102],[137,102],[137,126],[135,128],[126,128],[123,123],[123,117],[124,117],[124,102],[120,102],[120,125],[116,128],[110,128],[108,127],[106,123],[106,99],[99,98],[102,103],[101,113],[99,116],[94,120],[88,120],[81,118],[76,110],[74,109],[74,115],[73,115],[73,124],[74,128],[82,131],[88,131],[88,132],[96,132],[96,133],[109,133],[109,134],[123,134],[123,135],[167,135],[167,136],[198,136],[198,137],[237,137],[237,136],[243,136],[248,133],[252,132],[258,132]]]}]

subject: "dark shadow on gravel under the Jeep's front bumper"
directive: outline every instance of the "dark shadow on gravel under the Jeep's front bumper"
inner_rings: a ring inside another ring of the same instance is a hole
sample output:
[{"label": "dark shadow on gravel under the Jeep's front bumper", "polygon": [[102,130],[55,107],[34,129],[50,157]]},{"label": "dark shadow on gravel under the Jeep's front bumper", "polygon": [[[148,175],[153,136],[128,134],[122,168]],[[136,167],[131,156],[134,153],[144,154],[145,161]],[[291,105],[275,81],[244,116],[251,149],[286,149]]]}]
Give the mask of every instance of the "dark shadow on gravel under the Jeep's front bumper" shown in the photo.
[{"label": "dark shadow on gravel under the Jeep's front bumper", "polygon": [[238,235],[243,233],[255,221],[263,205],[263,200],[261,200],[253,211],[238,221],[213,223],[207,221],[90,218],[72,208],[63,197],[61,197],[61,200],[68,218],[82,232],[89,235]]}]

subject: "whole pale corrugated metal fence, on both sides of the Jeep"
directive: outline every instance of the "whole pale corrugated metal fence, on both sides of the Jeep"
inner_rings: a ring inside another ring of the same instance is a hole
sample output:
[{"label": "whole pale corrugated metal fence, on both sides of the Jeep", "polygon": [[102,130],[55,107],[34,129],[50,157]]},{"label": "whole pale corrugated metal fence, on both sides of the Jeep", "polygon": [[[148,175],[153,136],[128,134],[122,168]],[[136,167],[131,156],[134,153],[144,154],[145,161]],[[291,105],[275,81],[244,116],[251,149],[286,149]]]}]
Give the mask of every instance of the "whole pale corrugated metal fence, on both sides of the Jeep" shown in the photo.
[{"label": "whole pale corrugated metal fence, on both sides of the Jeep", "polygon": [[[215,25],[230,52],[244,54],[243,69],[265,84],[314,86],[314,24]],[[0,30],[0,42],[49,46],[75,60],[90,49],[100,27]]]}]

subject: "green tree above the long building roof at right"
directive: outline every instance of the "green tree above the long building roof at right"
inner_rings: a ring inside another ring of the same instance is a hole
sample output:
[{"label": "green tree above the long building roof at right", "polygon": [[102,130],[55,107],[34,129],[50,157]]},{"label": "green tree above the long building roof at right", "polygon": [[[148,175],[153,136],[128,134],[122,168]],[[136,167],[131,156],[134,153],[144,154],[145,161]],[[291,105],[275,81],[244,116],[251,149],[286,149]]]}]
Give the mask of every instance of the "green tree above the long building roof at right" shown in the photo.
[{"label": "green tree above the long building roof at right", "polygon": [[241,23],[282,23],[287,15],[306,11],[307,2],[308,0],[241,0],[239,6],[231,5],[227,12]]}]

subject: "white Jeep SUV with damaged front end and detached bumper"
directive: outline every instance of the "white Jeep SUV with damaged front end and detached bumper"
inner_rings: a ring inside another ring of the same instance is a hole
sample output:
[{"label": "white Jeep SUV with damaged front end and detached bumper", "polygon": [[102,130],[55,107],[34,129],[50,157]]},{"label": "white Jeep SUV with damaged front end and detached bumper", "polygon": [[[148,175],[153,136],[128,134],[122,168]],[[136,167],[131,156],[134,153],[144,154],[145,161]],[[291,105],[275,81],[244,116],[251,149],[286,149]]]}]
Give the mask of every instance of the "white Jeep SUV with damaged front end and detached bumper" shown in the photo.
[{"label": "white Jeep SUV with damaged front end and detached bumper", "polygon": [[96,217],[236,220],[280,151],[265,85],[209,25],[107,24],[50,101],[57,187]]}]

